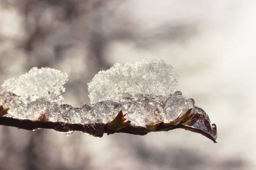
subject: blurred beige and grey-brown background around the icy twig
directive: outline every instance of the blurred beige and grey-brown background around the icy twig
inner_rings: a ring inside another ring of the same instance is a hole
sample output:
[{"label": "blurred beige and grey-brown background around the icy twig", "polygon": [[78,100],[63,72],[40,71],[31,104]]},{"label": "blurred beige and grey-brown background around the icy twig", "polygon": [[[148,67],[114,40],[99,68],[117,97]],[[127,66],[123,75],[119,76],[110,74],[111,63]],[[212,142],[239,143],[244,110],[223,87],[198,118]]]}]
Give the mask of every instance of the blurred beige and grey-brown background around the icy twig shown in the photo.
[{"label": "blurred beige and grey-brown background around the icy twig", "polygon": [[94,138],[1,126],[0,170],[256,169],[256,1],[0,2],[0,84],[34,66],[59,69],[67,104],[79,107],[100,70],[163,59],[218,130],[214,144],[185,130]]}]

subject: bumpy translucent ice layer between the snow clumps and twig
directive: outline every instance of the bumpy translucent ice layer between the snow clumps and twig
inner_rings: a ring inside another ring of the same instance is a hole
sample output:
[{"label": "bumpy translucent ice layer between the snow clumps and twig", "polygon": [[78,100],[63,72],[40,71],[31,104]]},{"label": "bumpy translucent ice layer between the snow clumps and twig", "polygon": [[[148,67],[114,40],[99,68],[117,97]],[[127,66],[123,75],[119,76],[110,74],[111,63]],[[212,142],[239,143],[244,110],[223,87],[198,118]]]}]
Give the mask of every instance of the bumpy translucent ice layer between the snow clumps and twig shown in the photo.
[{"label": "bumpy translucent ice layer between the snow clumps and twig", "polygon": [[100,101],[92,107],[84,104],[82,107],[72,107],[68,104],[58,104],[44,99],[38,99],[29,104],[24,104],[22,98],[2,92],[0,96],[4,107],[10,107],[9,114],[19,119],[37,120],[44,113],[49,121],[66,123],[108,123],[122,110],[127,113],[126,118],[131,124],[145,127],[151,122],[170,122],[180,114],[192,109],[190,103],[181,92],[173,95],[136,95],[134,98],[124,97],[120,102]]}]

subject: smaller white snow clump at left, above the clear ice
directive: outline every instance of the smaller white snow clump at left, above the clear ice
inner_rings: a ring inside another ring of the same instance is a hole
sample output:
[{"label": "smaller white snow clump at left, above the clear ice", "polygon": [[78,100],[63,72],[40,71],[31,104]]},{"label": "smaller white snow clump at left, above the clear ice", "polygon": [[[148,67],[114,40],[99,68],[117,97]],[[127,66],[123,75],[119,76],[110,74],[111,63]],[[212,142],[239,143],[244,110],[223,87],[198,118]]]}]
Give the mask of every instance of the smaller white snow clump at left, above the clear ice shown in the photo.
[{"label": "smaller white snow clump at left, above the clear ice", "polygon": [[33,67],[29,72],[18,78],[10,78],[2,84],[3,91],[12,92],[25,98],[25,101],[35,101],[45,98],[49,101],[64,103],[61,92],[67,82],[67,73],[56,69]]}]

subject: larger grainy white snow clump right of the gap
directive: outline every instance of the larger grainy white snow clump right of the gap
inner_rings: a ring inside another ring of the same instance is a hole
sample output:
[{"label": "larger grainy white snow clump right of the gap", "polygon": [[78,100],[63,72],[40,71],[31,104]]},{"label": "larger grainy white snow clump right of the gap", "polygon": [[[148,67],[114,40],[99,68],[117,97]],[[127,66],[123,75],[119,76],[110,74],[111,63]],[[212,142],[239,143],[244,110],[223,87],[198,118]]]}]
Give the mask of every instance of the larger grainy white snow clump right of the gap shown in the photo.
[{"label": "larger grainy white snow clump right of the gap", "polygon": [[178,75],[163,60],[115,64],[88,84],[90,102],[119,101],[123,95],[167,95],[177,91]]}]

